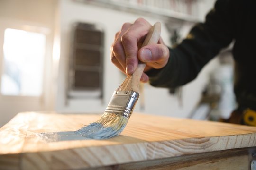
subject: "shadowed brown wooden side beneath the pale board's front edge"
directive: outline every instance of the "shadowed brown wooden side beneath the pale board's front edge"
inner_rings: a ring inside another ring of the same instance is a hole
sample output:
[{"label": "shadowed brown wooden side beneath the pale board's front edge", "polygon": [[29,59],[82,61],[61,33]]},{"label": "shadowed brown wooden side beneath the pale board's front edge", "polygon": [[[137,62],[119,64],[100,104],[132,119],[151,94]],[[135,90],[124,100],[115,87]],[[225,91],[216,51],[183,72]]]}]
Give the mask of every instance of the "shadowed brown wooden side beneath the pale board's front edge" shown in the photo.
[{"label": "shadowed brown wooden side beneath the pale board's front edge", "polygon": [[250,170],[252,150],[255,148],[198,153],[87,170]]}]

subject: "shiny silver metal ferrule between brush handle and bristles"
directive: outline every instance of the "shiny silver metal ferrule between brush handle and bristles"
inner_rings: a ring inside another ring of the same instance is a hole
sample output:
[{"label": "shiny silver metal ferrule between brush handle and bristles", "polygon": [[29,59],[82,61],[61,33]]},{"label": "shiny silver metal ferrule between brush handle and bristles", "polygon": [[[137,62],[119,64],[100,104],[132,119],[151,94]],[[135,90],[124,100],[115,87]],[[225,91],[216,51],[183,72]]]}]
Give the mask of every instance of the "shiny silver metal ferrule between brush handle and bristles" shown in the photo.
[{"label": "shiny silver metal ferrule between brush handle and bristles", "polygon": [[130,118],[139,94],[133,91],[115,91],[105,112],[123,115]]}]

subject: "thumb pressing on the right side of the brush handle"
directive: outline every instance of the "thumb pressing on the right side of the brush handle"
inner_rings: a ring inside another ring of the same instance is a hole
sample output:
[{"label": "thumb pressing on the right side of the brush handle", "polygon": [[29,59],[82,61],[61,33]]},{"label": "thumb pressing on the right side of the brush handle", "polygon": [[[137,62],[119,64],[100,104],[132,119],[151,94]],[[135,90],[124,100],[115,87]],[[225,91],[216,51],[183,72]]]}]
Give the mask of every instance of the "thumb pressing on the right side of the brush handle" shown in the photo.
[{"label": "thumb pressing on the right side of the brush handle", "polygon": [[147,63],[150,68],[163,68],[169,59],[169,49],[163,44],[146,45],[138,51],[138,59]]}]

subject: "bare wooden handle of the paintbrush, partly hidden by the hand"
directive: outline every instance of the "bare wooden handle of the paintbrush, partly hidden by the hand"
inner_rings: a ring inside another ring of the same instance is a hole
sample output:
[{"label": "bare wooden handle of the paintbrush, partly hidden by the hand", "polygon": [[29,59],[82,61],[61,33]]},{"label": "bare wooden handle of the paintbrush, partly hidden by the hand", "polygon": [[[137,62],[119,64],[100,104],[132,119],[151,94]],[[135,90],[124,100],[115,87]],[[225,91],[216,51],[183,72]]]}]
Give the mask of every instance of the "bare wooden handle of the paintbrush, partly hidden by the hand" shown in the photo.
[{"label": "bare wooden handle of the paintbrush, partly hidden by the hand", "polygon": [[[141,47],[156,44],[159,41],[161,33],[161,24],[160,22],[156,22],[154,26],[149,30],[148,34],[146,35],[146,39],[144,40]],[[146,63],[139,62],[138,67],[136,68],[135,72],[132,75],[128,75],[124,82],[119,86],[117,91],[139,91],[139,83],[144,68],[146,67]]]}]

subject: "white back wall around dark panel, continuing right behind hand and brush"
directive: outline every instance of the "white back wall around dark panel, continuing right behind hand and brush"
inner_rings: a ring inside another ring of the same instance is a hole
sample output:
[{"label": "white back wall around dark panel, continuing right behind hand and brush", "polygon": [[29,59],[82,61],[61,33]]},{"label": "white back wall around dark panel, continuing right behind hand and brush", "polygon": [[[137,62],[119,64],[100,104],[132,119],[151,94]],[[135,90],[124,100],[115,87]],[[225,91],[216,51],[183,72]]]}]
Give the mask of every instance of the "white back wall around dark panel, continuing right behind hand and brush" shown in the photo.
[{"label": "white back wall around dark panel, continuing right behind hand and brush", "polygon": [[[133,22],[139,16],[107,8],[89,6],[83,3],[61,0],[60,3],[60,32],[61,32],[61,57],[58,80],[58,94],[56,101],[56,110],[62,112],[83,112],[103,113],[110,100],[110,97],[125,76],[110,62],[110,46],[114,40],[115,33],[119,31],[124,22]],[[146,18],[154,24],[156,19]],[[104,99],[103,102],[97,99],[69,99],[65,97],[66,84],[66,66],[69,57],[69,35],[71,34],[71,25],[74,22],[88,22],[101,24],[105,30],[105,56],[104,56]],[[169,36],[162,22],[162,37],[167,45],[169,45]],[[135,111],[145,112],[148,114],[159,114],[173,117],[187,117],[191,110],[195,107],[200,99],[201,91],[207,82],[208,72],[217,65],[216,60],[212,61],[209,66],[204,68],[204,71],[198,76],[197,80],[185,85],[182,90],[182,105],[179,105],[177,97],[170,95],[167,89],[155,88],[150,85],[145,85],[145,109],[142,110],[140,100],[137,103]]]}]

